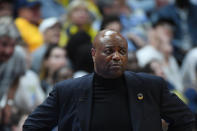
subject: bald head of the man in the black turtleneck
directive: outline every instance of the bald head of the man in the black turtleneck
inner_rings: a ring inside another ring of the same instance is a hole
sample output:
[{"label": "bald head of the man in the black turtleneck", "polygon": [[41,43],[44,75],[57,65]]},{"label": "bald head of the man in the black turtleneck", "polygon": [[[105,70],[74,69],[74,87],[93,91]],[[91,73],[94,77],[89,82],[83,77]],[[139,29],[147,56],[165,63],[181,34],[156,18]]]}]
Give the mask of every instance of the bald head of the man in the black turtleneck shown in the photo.
[{"label": "bald head of the man in the black turtleneck", "polygon": [[123,74],[128,62],[127,41],[120,33],[103,30],[95,37],[92,57],[98,75],[117,78]]}]

